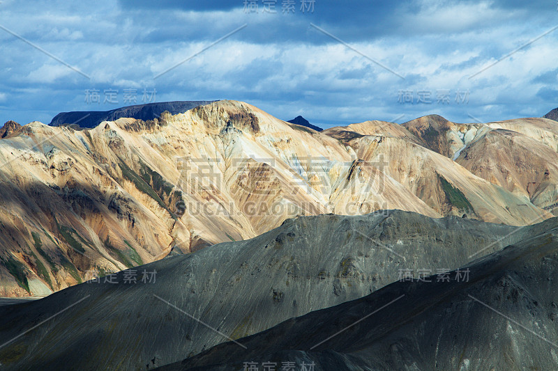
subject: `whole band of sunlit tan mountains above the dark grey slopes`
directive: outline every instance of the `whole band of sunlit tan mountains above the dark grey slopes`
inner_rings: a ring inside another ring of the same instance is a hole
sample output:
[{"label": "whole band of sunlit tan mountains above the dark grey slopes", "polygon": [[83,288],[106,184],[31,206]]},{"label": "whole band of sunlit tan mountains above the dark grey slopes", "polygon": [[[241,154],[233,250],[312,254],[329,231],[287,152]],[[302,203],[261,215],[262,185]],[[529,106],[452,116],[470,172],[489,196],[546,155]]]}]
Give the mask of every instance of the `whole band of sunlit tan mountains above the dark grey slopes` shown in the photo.
[{"label": "whole band of sunlit tan mountains above the dark grey slopes", "polygon": [[[420,124],[367,121],[316,132],[224,100],[92,129],[7,128],[0,296],[50,294],[169,254],[250,239],[296,216],[398,209],[525,226],[556,212],[557,122],[437,118],[431,125],[448,130],[432,134],[422,129],[428,120]],[[518,133],[513,161],[485,157],[491,152],[481,145],[510,143],[483,136],[495,129]],[[469,159],[474,153],[490,168]],[[532,163],[503,173],[521,161]]]}]

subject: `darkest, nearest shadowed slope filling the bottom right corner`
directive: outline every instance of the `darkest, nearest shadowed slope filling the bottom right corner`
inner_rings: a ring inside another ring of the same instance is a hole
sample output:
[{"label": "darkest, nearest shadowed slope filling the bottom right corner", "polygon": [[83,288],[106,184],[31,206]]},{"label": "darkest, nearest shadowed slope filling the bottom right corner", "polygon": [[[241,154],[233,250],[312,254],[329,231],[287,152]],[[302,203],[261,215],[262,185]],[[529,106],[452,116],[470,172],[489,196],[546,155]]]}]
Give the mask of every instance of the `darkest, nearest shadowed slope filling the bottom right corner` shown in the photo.
[{"label": "darkest, nearest shadowed slope filling the bottom right corner", "polygon": [[557,227],[460,269],[469,280],[393,283],[160,370],[556,370]]}]

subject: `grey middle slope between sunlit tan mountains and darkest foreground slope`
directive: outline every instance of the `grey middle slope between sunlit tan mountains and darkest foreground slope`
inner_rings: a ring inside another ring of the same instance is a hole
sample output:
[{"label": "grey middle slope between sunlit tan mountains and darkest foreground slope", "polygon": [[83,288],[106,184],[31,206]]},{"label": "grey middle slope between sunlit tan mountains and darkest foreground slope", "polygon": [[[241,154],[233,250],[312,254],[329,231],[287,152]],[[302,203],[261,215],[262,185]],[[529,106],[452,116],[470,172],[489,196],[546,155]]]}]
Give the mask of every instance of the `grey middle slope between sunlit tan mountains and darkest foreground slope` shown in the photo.
[{"label": "grey middle slope between sunlit tan mountains and darkest foreground slope", "polygon": [[[116,283],[101,278],[0,307],[0,362],[4,370],[148,370],[364,297],[402,271],[455,269],[555,224],[518,229],[401,211],[289,219],[254,239],[121,271]],[[152,282],[142,282],[144,270],[156,271]]]}]

